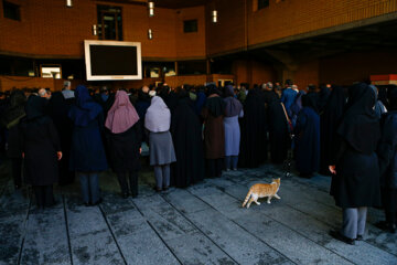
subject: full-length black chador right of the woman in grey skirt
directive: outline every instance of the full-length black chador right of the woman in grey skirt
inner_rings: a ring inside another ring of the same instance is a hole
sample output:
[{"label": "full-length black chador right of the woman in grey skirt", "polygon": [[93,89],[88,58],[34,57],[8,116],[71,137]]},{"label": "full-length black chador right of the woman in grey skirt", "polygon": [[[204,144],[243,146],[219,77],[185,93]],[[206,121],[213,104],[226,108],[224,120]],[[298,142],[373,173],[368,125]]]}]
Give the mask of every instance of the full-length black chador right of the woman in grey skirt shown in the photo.
[{"label": "full-length black chador right of the woman in grey skirt", "polygon": [[202,125],[189,97],[181,98],[171,117],[171,135],[176,155],[172,184],[184,188],[204,178]]}]

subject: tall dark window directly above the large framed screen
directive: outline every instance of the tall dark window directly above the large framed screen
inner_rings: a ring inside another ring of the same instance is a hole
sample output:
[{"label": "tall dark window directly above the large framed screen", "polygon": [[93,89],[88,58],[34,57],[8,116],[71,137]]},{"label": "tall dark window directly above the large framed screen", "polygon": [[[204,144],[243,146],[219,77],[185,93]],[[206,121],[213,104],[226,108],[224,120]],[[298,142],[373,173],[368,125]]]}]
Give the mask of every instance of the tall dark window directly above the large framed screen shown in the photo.
[{"label": "tall dark window directly above the large framed screen", "polygon": [[120,7],[97,6],[99,40],[122,41],[122,17]]}]

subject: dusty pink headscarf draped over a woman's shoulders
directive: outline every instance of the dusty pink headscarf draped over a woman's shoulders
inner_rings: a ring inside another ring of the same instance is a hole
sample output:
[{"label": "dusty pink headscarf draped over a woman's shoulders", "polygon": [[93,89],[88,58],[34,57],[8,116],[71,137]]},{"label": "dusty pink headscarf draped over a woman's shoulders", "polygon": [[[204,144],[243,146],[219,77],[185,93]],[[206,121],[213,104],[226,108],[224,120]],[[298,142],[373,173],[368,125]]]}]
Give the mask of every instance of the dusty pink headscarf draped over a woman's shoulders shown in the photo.
[{"label": "dusty pink headscarf draped over a woman's shoulders", "polygon": [[121,134],[131,128],[139,120],[137,110],[125,91],[116,93],[114,105],[108,112],[105,126],[114,134]]}]

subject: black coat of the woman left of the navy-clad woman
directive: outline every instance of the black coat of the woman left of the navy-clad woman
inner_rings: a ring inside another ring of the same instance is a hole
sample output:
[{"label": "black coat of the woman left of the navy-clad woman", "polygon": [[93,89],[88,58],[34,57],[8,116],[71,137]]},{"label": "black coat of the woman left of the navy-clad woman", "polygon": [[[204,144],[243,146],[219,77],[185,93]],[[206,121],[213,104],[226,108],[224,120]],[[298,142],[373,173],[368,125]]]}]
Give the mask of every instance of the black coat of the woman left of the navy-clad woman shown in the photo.
[{"label": "black coat of the woman left of the navy-clad woman", "polygon": [[24,152],[24,181],[32,186],[57,182],[56,152],[61,151],[61,145],[53,121],[49,117],[23,121],[21,142]]}]

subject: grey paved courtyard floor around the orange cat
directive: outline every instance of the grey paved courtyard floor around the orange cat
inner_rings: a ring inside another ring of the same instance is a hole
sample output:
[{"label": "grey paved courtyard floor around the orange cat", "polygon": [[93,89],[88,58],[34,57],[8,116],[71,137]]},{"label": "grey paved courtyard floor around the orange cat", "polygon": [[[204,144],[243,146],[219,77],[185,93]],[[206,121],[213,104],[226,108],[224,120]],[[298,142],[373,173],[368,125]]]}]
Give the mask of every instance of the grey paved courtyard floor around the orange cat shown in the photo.
[{"label": "grey paved courtyard floor around the orange cat", "polygon": [[281,200],[242,208],[253,183],[282,176],[265,165],[158,194],[147,169],[139,198],[124,200],[107,172],[100,205],[82,205],[76,183],[56,188],[57,205],[43,211],[2,178],[0,264],[397,264],[397,235],[373,225],[379,210],[355,246],[328,235],[341,224],[329,177],[282,178]]}]

